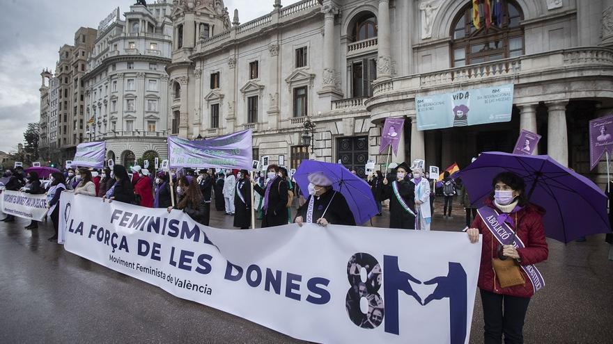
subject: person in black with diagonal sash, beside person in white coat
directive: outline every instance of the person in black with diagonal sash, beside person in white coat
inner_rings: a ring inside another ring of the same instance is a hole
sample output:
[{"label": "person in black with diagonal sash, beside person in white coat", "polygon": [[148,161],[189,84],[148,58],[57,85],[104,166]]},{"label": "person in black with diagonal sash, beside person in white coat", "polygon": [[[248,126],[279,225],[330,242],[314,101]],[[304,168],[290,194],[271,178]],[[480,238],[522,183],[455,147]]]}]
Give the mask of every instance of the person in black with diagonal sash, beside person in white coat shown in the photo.
[{"label": "person in black with diagonal sash, beside person in white coat", "polygon": [[396,180],[389,183],[383,179],[383,193],[389,198],[389,228],[415,228],[415,184],[406,179],[409,166],[401,163],[396,167]]}]

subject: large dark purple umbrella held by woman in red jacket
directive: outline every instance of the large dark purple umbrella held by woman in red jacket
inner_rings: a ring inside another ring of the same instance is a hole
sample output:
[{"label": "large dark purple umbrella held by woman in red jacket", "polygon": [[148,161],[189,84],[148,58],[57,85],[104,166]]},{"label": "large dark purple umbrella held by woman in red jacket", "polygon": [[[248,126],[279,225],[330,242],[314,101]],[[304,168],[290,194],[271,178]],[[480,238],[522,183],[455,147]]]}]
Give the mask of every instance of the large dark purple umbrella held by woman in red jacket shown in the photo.
[{"label": "large dark purple umbrella held by woman in red jacket", "polygon": [[481,206],[490,197],[491,181],[500,172],[513,172],[524,179],[529,201],[547,211],[543,224],[549,238],[568,243],[611,231],[607,195],[591,180],[547,155],[481,154],[460,172],[473,205]]}]

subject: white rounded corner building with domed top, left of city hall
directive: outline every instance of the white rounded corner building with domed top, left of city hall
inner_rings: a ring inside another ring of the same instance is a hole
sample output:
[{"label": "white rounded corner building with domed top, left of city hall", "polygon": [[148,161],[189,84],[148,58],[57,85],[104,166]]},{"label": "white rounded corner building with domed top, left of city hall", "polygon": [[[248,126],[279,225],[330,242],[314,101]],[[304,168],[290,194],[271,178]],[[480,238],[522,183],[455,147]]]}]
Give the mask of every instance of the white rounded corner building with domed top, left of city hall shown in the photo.
[{"label": "white rounded corner building with domed top, left of city hall", "polygon": [[105,140],[116,163],[167,156],[171,9],[166,1],[130,6],[122,19],[116,8],[100,22],[83,78],[86,140]]}]

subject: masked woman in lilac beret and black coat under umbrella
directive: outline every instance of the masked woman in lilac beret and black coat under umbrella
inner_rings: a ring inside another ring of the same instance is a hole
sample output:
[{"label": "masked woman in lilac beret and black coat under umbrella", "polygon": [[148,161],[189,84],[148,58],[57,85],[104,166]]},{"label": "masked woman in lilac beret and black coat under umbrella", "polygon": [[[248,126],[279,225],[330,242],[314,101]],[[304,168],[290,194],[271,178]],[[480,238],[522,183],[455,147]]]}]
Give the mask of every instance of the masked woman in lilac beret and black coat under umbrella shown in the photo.
[{"label": "masked woman in lilac beret and black coat under umbrella", "polygon": [[309,197],[297,210],[296,222],[302,227],[304,222],[328,224],[346,224],[355,226],[355,218],[345,197],[332,190],[332,181],[323,172],[312,172],[309,179]]}]

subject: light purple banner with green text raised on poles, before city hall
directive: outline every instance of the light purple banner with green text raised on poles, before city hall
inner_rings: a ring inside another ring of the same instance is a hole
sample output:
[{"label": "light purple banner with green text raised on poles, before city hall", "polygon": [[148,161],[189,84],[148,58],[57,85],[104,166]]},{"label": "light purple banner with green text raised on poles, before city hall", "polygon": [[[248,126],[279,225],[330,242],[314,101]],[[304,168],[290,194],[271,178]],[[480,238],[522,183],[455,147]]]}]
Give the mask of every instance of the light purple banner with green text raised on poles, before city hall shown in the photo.
[{"label": "light purple banner with green text raised on poles, before city hall", "polygon": [[251,136],[251,130],[193,141],[169,136],[169,167],[215,167],[251,170],[253,163]]}]

